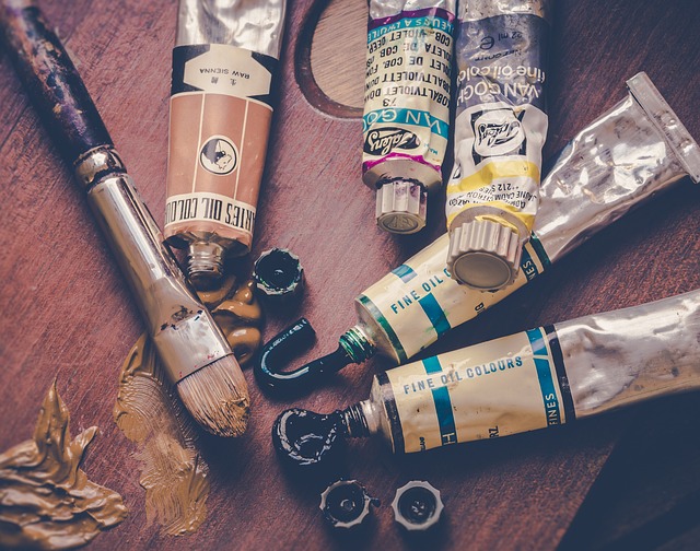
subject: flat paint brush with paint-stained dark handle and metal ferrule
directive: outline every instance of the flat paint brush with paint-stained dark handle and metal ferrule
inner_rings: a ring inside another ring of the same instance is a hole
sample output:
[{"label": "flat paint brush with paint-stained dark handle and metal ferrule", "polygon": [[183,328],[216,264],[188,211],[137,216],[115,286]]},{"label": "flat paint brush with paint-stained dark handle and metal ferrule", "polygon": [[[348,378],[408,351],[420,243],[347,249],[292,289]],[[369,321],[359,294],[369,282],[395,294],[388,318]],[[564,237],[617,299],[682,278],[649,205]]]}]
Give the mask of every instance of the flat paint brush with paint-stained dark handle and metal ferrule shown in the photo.
[{"label": "flat paint brush with paint-stained dark handle and metal ferrule", "polygon": [[163,244],[75,67],[35,2],[4,0],[0,7],[7,51],[85,191],[183,403],[209,432],[242,434],[249,406],[243,373]]}]

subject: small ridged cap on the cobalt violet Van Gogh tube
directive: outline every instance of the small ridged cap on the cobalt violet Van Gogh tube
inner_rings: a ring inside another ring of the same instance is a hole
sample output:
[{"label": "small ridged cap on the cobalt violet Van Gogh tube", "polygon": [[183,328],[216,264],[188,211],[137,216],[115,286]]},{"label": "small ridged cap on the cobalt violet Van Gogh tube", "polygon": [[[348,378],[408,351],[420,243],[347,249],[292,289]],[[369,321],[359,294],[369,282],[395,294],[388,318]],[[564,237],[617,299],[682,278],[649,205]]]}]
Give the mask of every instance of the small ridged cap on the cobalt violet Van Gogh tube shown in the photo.
[{"label": "small ridged cap on the cobalt violet Van Gogh tube", "polygon": [[425,227],[428,191],[418,181],[396,179],[376,190],[376,223],[397,234],[412,234]]}]

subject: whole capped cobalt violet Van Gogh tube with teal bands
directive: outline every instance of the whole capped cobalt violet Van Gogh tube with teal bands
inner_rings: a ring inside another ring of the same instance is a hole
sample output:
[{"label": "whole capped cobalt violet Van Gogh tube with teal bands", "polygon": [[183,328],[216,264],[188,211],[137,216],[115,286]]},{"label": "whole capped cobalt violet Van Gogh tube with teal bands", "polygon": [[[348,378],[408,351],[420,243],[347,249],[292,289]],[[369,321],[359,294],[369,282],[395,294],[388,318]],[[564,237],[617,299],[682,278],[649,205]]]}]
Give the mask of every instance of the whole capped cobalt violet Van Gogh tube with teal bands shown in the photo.
[{"label": "whole capped cobalt violet Van Gogh tube with teal bands", "polygon": [[370,0],[362,117],[364,183],[387,232],[425,226],[450,131],[456,0]]}]

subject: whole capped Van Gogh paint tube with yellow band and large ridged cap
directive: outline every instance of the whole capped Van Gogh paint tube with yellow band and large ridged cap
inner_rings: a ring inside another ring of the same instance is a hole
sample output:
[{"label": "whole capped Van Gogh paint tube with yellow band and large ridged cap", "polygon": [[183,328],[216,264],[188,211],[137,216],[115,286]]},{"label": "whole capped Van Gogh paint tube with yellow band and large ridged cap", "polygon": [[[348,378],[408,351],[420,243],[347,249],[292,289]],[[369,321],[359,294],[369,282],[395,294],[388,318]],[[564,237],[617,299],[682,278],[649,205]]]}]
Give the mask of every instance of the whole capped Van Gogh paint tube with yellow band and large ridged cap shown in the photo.
[{"label": "whole capped Van Gogh paint tube with yellow band and large ridged cap", "polygon": [[447,269],[479,290],[517,274],[539,202],[551,0],[466,0],[456,45]]}]

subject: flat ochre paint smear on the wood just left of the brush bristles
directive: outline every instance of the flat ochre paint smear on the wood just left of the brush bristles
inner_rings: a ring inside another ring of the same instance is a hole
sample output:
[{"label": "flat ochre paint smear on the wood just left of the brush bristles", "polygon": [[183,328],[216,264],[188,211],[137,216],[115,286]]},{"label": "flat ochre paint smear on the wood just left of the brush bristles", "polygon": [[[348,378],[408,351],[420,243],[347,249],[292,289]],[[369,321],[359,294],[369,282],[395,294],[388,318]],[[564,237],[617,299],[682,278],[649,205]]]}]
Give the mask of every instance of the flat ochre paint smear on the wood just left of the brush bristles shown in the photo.
[{"label": "flat ochre paint smear on the wood just left of the brush bristles", "polygon": [[135,457],[141,461],[149,526],[158,521],[168,536],[197,530],[207,517],[208,467],[197,452],[194,421],[145,333],[121,367],[114,419],[127,438],[141,445]]}]

